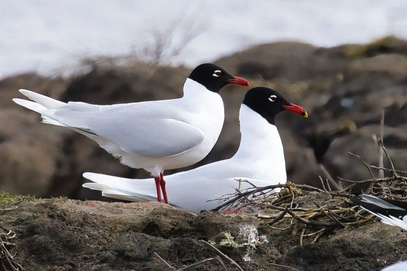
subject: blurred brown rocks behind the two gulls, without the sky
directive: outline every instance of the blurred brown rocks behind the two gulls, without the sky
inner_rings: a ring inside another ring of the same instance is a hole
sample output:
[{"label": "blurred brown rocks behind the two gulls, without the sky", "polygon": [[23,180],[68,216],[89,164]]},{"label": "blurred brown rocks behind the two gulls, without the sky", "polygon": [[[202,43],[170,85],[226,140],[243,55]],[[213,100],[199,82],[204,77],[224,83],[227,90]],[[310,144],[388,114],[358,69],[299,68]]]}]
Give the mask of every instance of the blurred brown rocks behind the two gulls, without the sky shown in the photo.
[{"label": "blurred brown rocks behind the two gulls, without the sky", "polygon": [[[323,165],[337,176],[361,180],[369,172],[352,152],[377,165],[385,110],[384,144],[395,167],[407,169],[407,41],[393,36],[368,44],[323,48],[276,42],[218,59],[231,74],[268,86],[303,106],[302,118],[282,112],[277,126],[284,145],[288,179],[319,185]],[[40,117],[14,104],[19,88],[62,101],[112,104],[177,98],[191,67],[171,67],[137,57],[85,59],[75,75],[44,77],[35,73],[0,81],[0,190],[38,197],[100,198],[82,190],[85,171],[130,178],[149,174],[121,165],[92,140],[71,130],[39,123]],[[190,169],[230,158],[240,141],[238,114],[246,89],[221,91],[225,124],[212,152]],[[272,144],[272,142],[270,142]],[[385,161],[385,166],[389,166]],[[179,170],[168,170],[166,174]],[[273,172],[270,172],[273,174]]]}]

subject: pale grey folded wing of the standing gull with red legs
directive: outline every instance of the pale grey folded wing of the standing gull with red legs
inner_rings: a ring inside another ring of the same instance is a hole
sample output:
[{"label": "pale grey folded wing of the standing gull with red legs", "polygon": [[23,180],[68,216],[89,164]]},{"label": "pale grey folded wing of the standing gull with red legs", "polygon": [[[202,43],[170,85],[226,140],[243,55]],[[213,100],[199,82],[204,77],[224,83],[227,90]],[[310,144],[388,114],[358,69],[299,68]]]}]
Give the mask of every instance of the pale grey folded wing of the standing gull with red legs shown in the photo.
[{"label": "pale grey folded wing of the standing gull with red legs", "polygon": [[179,118],[187,112],[177,100],[112,105],[106,108],[70,103],[55,112],[58,121],[118,144],[124,151],[148,157],[174,156],[199,145],[205,133]]}]

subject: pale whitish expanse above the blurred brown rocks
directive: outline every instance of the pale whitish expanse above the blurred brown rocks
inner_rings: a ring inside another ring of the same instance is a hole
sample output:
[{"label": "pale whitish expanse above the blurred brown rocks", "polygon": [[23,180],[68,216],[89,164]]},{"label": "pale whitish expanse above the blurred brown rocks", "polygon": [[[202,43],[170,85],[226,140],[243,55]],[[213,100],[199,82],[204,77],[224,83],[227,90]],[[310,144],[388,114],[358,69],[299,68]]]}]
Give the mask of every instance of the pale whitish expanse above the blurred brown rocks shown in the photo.
[{"label": "pale whitish expanse above the blurred brown rocks", "polygon": [[[193,66],[278,40],[332,46],[407,38],[407,1],[1,0],[0,78],[56,74],[82,57],[140,52],[157,33],[172,36],[168,63]],[[192,39],[183,44],[186,36]]]}]

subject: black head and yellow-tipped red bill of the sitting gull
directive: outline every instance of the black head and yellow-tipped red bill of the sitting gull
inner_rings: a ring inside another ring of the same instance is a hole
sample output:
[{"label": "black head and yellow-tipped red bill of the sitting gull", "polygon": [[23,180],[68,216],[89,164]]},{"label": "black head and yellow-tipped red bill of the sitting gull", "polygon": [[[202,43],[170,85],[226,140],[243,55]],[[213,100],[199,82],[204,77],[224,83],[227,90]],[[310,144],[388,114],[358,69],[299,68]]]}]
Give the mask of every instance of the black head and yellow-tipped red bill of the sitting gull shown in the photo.
[{"label": "black head and yellow-tipped red bill of the sitting gull", "polygon": [[253,87],[249,89],[243,104],[266,118],[271,124],[274,124],[275,115],[284,110],[308,117],[307,111],[304,108],[287,102],[281,94],[268,87]]}]

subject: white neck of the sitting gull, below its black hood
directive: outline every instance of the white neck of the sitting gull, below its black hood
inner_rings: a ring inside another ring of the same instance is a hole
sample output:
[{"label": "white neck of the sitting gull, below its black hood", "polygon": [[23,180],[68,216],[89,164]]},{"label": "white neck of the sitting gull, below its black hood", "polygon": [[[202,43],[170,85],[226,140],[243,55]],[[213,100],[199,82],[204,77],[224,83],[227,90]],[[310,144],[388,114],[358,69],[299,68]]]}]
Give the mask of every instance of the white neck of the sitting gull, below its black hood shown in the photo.
[{"label": "white neck of the sitting gull, below its black hood", "polygon": [[264,117],[242,104],[240,107],[240,131],[242,134],[238,152],[233,158],[262,161],[273,167],[283,166],[283,146],[277,127]]}]

